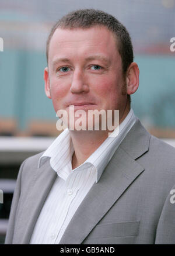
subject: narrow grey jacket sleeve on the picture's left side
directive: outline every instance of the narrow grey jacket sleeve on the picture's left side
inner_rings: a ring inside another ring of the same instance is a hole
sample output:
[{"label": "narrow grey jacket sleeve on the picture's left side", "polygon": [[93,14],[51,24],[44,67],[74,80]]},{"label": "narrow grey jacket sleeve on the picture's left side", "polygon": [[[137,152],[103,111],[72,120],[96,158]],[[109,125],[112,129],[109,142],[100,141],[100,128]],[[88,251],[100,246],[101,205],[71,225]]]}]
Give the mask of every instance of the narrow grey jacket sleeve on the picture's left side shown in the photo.
[{"label": "narrow grey jacket sleeve on the picture's left side", "polygon": [[16,218],[17,206],[19,203],[20,190],[21,190],[21,177],[22,177],[22,171],[23,171],[25,162],[26,162],[26,160],[24,160],[22,162],[22,164],[20,165],[19,173],[17,175],[15,191],[13,193],[12,205],[10,208],[10,216],[9,216],[9,222],[8,222],[8,230],[6,232],[6,237],[5,237],[5,244],[12,244],[12,242],[13,242],[15,218]]}]

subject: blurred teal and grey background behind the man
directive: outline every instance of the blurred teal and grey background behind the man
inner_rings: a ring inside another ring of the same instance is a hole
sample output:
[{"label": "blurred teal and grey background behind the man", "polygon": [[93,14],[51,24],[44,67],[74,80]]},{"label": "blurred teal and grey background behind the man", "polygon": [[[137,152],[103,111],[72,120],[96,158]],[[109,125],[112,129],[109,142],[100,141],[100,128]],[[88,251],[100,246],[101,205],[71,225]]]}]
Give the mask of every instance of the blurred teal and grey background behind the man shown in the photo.
[{"label": "blurred teal and grey background behind the man", "polygon": [[59,134],[44,93],[48,33],[82,8],[106,11],[127,27],[140,69],[132,108],[151,134],[175,146],[175,0],[0,0],[0,243],[20,164]]}]

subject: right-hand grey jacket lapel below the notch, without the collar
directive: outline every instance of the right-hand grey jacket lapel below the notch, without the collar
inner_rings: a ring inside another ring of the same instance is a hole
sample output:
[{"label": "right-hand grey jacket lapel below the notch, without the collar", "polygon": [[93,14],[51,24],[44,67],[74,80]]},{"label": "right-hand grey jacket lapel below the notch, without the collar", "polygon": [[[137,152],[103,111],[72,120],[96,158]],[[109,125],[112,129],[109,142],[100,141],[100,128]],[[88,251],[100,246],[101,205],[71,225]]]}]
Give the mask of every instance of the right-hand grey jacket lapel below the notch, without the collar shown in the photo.
[{"label": "right-hand grey jacket lapel below the notch, without the collar", "polygon": [[[99,220],[143,171],[125,151],[111,158],[99,182],[94,184],[69,223],[60,244],[81,244]],[[129,175],[132,172],[132,176]]]}]

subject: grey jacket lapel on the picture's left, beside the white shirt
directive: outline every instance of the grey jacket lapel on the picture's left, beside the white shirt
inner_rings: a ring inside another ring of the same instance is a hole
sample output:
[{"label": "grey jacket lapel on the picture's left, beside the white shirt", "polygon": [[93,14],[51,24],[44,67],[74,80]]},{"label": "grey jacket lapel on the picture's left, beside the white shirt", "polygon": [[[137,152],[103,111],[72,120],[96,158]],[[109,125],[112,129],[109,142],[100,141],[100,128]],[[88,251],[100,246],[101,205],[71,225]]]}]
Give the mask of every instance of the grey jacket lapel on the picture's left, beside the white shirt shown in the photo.
[{"label": "grey jacket lapel on the picture's left, beside the white shirt", "polygon": [[49,160],[36,169],[34,180],[31,182],[32,188],[26,196],[22,214],[19,216],[19,222],[22,224],[17,226],[17,237],[20,243],[29,244],[38,215],[56,177],[57,173],[51,168]]}]

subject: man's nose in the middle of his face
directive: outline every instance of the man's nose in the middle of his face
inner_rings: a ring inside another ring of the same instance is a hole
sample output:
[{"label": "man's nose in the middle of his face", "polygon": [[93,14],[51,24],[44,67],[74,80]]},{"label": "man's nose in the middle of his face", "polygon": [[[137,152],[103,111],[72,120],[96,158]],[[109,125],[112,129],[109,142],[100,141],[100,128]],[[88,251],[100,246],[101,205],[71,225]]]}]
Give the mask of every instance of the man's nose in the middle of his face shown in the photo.
[{"label": "man's nose in the middle of his face", "polygon": [[85,74],[83,71],[76,70],[72,77],[72,83],[70,91],[72,94],[81,94],[82,92],[89,92],[89,85],[87,84]]}]

